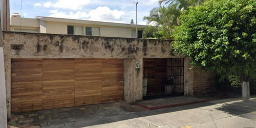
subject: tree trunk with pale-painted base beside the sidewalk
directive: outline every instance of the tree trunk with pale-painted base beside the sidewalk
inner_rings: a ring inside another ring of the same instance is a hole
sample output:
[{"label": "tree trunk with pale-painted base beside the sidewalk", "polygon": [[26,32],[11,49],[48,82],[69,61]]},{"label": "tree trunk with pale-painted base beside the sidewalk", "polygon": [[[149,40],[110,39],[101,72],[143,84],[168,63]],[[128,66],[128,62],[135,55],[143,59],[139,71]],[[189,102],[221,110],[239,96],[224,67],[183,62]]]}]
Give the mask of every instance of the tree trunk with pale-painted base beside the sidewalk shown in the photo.
[{"label": "tree trunk with pale-painted base beside the sidewalk", "polygon": [[249,85],[249,76],[243,75],[240,78],[240,81],[242,83],[242,97],[244,101],[247,101],[250,99],[250,85]]}]

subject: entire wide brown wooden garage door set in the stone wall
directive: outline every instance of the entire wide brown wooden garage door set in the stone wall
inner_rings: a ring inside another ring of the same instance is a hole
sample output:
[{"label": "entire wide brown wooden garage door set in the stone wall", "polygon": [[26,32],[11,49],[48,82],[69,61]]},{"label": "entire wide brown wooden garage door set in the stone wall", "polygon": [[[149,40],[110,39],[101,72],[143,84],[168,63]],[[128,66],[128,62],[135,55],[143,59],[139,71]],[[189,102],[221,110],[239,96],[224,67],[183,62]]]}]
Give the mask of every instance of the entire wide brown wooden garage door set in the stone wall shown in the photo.
[{"label": "entire wide brown wooden garage door set in the stone wall", "polygon": [[123,100],[122,59],[12,59],[13,113]]}]

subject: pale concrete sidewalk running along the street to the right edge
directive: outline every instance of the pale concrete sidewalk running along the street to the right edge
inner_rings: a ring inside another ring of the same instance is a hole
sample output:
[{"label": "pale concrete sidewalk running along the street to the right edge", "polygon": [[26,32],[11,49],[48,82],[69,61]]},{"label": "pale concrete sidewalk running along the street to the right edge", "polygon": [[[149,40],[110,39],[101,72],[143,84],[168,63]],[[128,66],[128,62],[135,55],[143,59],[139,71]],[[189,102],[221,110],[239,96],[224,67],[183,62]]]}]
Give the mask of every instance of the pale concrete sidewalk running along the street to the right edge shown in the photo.
[{"label": "pale concrete sidewalk running along the street to the right edge", "polygon": [[229,98],[193,105],[102,118],[48,127],[256,127],[256,98]]}]

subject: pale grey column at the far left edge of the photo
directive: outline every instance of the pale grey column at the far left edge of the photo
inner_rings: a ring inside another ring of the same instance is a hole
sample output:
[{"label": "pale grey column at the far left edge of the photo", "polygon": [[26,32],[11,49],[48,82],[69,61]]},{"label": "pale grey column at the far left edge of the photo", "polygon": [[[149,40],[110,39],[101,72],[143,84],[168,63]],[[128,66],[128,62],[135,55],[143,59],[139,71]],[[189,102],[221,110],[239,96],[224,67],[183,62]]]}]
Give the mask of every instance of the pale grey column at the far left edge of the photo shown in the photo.
[{"label": "pale grey column at the far left edge of the photo", "polygon": [[[2,32],[1,32],[1,40]],[[4,67],[4,49],[0,46],[0,127],[7,127],[7,109],[6,109],[6,87],[5,87],[5,67]]]}]

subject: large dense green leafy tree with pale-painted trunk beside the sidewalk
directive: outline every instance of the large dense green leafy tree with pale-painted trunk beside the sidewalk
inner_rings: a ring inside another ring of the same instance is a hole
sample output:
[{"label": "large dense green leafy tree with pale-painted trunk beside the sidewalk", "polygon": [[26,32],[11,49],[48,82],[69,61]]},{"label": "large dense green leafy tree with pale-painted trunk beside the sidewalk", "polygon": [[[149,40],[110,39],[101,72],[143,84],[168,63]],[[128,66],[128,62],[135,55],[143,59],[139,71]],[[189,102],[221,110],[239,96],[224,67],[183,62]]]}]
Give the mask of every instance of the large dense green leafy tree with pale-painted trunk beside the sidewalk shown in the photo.
[{"label": "large dense green leafy tree with pale-painted trunk beside the sidewalk", "polygon": [[194,66],[239,76],[242,87],[249,88],[249,78],[256,75],[255,16],[256,0],[209,0],[191,7],[180,17],[174,48]]}]

